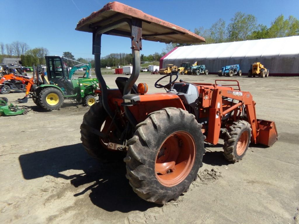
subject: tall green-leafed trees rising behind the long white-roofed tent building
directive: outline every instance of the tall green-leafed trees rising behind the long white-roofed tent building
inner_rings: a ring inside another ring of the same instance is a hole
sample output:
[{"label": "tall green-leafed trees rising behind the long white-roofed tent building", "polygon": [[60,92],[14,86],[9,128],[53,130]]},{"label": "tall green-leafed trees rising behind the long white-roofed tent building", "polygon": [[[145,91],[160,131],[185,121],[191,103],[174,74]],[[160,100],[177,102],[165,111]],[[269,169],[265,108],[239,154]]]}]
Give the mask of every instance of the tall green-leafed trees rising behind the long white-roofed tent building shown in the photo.
[{"label": "tall green-leafed trees rising behind the long white-roofed tent building", "polygon": [[[201,44],[297,36],[299,35],[299,20],[294,16],[285,18],[280,15],[271,22],[270,27],[267,27],[264,24],[258,24],[254,15],[237,12],[227,26],[223,19],[219,19],[208,29],[202,26],[195,28],[194,33],[205,38],[206,42]],[[185,45],[187,44],[166,44],[162,51],[167,53],[174,47]]]}]

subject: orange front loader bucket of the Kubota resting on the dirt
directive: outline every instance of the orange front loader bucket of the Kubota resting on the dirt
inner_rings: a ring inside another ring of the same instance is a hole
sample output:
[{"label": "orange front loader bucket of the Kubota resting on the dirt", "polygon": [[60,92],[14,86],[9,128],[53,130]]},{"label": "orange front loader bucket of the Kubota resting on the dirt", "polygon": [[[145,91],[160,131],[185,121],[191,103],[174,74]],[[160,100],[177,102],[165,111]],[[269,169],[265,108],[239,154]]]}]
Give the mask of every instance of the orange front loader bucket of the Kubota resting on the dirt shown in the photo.
[{"label": "orange front loader bucket of the Kubota resting on the dirt", "polygon": [[257,143],[272,146],[278,134],[274,121],[258,120]]}]

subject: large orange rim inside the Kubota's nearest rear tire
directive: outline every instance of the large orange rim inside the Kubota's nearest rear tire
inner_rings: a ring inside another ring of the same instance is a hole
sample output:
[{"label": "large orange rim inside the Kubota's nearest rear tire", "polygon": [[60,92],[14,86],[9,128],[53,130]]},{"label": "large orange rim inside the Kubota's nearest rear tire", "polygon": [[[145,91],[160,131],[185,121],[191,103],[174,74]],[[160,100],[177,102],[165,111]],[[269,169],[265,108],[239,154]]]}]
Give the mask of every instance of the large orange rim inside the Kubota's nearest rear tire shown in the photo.
[{"label": "large orange rim inside the Kubota's nearest rear tire", "polygon": [[179,184],[189,175],[195,157],[195,141],[189,133],[177,131],[171,134],[161,144],[156,156],[156,178],[167,187]]}]

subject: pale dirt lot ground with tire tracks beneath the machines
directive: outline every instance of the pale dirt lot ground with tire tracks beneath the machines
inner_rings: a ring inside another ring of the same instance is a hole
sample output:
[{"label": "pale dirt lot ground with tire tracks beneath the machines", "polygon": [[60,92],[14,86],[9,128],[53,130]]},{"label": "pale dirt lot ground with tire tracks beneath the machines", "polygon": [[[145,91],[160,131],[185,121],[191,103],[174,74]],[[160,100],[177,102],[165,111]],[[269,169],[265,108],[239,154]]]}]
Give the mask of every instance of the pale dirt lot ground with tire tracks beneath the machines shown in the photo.
[{"label": "pale dirt lot ground with tire tracks beneath the machines", "polygon": [[[105,76],[111,88],[116,77]],[[160,77],[141,73],[137,83],[149,84],[149,93],[163,92],[154,88]],[[224,159],[223,141],[206,144],[199,178],[164,206],[132,191],[123,162],[100,164],[84,151],[79,127],[89,108],[65,100],[61,110],[44,112],[29,99],[23,104],[27,115],[1,116],[0,223],[298,224],[299,78],[227,79],[239,80],[241,89],[252,93],[257,117],[276,122],[279,140],[270,148],[250,145],[235,164]],[[14,104],[23,96],[5,95]]]}]

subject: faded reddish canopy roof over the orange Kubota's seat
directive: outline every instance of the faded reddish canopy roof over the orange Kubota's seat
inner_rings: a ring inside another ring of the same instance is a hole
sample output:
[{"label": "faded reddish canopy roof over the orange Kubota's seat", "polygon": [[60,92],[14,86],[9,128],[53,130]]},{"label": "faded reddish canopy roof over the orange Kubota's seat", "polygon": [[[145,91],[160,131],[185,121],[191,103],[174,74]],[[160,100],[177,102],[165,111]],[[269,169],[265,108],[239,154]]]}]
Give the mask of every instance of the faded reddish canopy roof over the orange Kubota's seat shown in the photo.
[{"label": "faded reddish canopy roof over the orange Kubota's seat", "polygon": [[[202,43],[205,39],[195,33],[190,32],[182,27],[172,23],[150,16],[141,10],[132,8],[128,5],[117,1],[109,2],[102,9],[91,13],[90,16],[81,19],[76,30],[90,32],[95,27],[104,27],[113,22],[124,18],[137,18],[142,21],[142,38],[149,41],[157,41],[163,43]],[[104,34],[115,36],[131,36],[131,30],[128,24],[114,28]]]}]

